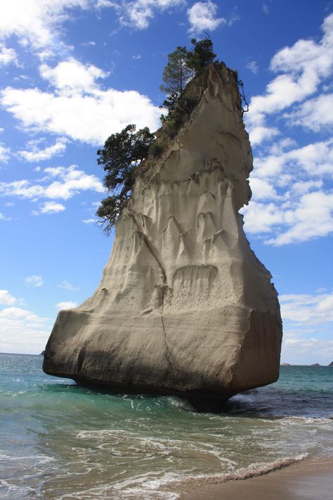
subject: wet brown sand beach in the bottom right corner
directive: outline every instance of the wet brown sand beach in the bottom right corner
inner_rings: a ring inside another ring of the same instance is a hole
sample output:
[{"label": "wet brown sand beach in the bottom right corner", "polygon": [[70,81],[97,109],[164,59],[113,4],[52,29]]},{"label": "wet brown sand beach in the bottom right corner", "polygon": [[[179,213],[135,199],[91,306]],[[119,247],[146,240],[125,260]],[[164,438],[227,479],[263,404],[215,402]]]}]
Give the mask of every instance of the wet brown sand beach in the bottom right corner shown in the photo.
[{"label": "wet brown sand beach in the bottom right corner", "polygon": [[333,499],[333,457],[305,459],[259,477],[228,482],[190,482],[181,500]]}]

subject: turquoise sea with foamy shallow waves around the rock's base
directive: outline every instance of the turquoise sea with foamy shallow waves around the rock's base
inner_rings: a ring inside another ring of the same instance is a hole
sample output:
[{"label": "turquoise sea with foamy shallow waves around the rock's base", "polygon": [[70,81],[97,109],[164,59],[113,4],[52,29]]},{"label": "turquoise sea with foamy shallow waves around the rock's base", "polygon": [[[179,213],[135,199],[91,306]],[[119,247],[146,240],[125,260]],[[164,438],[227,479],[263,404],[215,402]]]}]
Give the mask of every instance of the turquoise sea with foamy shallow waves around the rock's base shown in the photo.
[{"label": "turquoise sea with foamy shallow waves around the rock's base", "polygon": [[53,378],[41,356],[0,354],[0,498],[176,499],[191,477],[244,477],[333,456],[333,367],[200,414],[176,397],[111,395]]}]

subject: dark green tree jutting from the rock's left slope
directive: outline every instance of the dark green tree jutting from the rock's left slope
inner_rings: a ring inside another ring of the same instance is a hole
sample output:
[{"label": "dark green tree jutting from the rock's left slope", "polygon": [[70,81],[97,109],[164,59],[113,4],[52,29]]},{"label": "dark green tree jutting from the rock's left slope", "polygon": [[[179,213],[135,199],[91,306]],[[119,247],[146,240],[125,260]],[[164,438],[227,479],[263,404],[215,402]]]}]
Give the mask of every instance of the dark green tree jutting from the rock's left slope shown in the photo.
[{"label": "dark green tree jutting from the rock's left slope", "polygon": [[134,184],[134,170],[147,157],[154,141],[155,136],[148,127],[136,132],[136,125],[129,124],[122,132],[110,135],[104,147],[98,149],[98,165],[103,165],[107,172],[104,186],[111,193],[101,201],[96,212],[105,233],[110,233],[126,206]]}]

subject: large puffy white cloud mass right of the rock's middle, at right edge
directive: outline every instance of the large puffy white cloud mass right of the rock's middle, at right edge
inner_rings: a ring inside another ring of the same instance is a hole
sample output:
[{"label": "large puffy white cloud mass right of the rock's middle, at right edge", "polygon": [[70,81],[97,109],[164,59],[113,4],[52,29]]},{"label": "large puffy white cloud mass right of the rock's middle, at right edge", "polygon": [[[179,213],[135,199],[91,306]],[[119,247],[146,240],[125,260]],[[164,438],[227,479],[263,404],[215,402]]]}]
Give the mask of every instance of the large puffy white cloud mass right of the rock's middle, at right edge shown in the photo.
[{"label": "large puffy white cloud mass right of the rock's middle, at right edge", "polygon": [[[242,209],[245,230],[265,235],[270,245],[287,245],[327,236],[333,231],[333,139],[256,159],[250,178],[253,200]],[[329,186],[329,184],[327,184]],[[278,191],[277,191],[278,190]],[[270,236],[274,233],[274,236]]]}]

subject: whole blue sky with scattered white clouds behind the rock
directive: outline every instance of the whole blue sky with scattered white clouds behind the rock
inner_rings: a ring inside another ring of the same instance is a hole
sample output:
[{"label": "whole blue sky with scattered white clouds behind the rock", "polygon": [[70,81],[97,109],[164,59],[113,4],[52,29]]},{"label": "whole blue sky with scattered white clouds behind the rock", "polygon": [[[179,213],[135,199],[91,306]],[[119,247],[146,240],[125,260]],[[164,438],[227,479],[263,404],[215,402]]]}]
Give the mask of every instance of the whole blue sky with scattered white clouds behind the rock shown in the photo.
[{"label": "whole blue sky with scattered white clouds behind the rock", "polygon": [[159,127],[167,54],[208,32],[250,111],[242,209],[280,294],[282,361],[333,361],[333,4],[11,0],[0,4],[0,352],[39,354],[112,247],[96,226],[96,150]]}]

